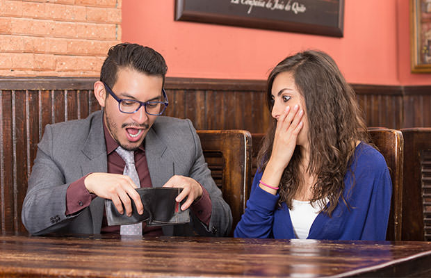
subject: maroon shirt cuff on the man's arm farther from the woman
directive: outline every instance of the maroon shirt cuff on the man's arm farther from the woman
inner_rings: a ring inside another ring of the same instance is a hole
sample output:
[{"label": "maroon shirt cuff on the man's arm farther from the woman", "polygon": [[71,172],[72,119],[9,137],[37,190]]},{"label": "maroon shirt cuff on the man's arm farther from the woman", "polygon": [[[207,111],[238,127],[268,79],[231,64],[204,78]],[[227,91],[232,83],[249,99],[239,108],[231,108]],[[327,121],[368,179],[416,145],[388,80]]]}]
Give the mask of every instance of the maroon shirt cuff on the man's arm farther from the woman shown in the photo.
[{"label": "maroon shirt cuff on the man's arm farther from the woman", "polygon": [[66,215],[71,215],[90,206],[92,199],[97,197],[88,192],[84,180],[88,174],[81,179],[70,183],[66,190]]}]

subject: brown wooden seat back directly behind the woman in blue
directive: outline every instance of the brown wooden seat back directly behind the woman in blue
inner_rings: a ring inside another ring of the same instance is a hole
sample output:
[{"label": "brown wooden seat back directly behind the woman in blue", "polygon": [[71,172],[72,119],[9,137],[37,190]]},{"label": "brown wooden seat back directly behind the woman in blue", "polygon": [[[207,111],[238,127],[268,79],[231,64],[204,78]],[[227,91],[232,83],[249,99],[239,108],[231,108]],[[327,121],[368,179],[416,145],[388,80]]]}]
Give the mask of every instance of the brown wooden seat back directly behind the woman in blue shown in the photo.
[{"label": "brown wooden seat back directly behind the woman in blue", "polygon": [[[387,230],[387,240],[401,240],[402,228],[402,133],[394,129],[373,128],[368,129],[371,135],[371,140],[374,145],[384,156],[389,170],[391,172],[392,180],[392,200],[391,200],[391,213],[389,215],[389,223]],[[262,133],[253,133],[253,172],[256,172],[256,157],[260,149],[260,142],[263,139]]]}]

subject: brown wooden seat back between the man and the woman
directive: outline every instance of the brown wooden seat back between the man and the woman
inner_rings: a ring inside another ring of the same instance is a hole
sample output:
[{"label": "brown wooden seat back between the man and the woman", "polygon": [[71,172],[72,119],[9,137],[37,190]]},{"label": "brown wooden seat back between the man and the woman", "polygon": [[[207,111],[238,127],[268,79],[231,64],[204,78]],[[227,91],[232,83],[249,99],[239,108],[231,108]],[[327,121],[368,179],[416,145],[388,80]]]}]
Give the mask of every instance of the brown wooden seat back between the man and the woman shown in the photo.
[{"label": "brown wooden seat back between the man and the woman", "polygon": [[252,136],[243,130],[198,130],[197,134],[211,175],[231,208],[233,236],[250,194]]}]

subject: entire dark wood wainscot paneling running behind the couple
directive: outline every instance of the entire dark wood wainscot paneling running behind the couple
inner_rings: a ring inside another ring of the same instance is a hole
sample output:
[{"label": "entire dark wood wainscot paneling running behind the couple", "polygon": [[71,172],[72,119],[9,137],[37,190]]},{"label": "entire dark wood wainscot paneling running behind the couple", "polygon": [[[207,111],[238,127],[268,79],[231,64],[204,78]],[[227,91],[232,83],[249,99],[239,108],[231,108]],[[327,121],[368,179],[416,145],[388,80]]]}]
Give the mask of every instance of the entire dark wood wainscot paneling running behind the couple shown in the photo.
[{"label": "entire dark wood wainscot paneling running behind the couple", "polygon": [[[95,80],[0,78],[1,231],[24,231],[19,214],[44,126],[99,110],[92,95]],[[271,122],[265,85],[265,81],[167,78],[166,115],[189,118],[196,129],[264,133]],[[431,85],[352,86],[368,126],[431,126]]]}]

